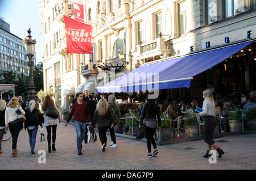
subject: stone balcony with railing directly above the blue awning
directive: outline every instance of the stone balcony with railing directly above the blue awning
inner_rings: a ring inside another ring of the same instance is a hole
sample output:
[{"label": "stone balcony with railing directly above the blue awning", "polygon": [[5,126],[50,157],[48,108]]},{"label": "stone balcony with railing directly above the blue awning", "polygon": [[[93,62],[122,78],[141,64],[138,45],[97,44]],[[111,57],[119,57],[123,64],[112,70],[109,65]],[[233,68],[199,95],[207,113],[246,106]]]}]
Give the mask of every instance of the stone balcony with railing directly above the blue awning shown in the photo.
[{"label": "stone balcony with railing directly above the blue awning", "polygon": [[148,62],[171,56],[172,49],[168,49],[164,40],[165,38],[159,37],[150,43],[137,45],[137,55],[134,58]]}]

